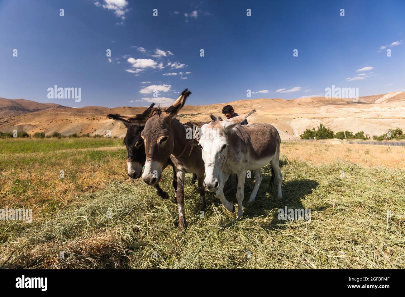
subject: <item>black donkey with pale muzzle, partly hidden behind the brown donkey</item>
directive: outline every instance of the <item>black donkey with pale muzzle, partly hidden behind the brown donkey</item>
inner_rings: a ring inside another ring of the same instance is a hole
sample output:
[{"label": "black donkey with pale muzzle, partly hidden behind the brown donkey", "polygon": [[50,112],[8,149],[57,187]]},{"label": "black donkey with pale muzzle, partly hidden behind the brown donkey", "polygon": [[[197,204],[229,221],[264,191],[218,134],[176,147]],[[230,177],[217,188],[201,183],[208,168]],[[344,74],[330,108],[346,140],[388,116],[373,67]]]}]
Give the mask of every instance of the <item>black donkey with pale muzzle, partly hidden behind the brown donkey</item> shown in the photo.
[{"label": "black donkey with pale muzzle, partly hidden behind the brown donkey", "polygon": [[[128,153],[128,175],[133,178],[137,179],[141,177],[142,174],[142,167],[145,165],[146,155],[145,155],[145,146],[143,145],[143,139],[141,138],[141,132],[145,127],[145,122],[147,118],[153,113],[153,108],[155,103],[152,103],[142,114],[137,114],[135,117],[127,117],[121,116],[119,114],[109,114],[108,117],[114,120],[119,120],[124,123],[127,127],[127,133],[124,138],[124,144],[126,145],[127,153]],[[137,123],[131,123],[129,120],[131,118],[137,118]],[[141,119],[144,119],[141,122]],[[167,165],[173,166],[173,187],[175,192],[177,190],[177,177],[175,172],[175,167],[171,160],[168,160]],[[196,175],[193,175],[192,183],[195,183]],[[159,183],[153,185],[156,190],[156,194],[160,196],[162,199],[167,199],[169,195],[167,192],[164,192],[162,188],[159,186]]]}]

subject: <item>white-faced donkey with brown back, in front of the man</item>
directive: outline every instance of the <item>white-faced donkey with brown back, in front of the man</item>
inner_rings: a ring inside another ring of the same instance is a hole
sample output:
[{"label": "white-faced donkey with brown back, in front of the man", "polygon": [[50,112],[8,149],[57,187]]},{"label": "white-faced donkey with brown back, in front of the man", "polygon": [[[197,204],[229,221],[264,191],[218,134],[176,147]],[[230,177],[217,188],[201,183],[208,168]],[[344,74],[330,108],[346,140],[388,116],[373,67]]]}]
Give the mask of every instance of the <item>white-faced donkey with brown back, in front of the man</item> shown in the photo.
[{"label": "white-faced donkey with brown back, in front of the man", "polygon": [[[277,181],[277,197],[281,198],[282,175],[279,167],[280,135],[271,124],[254,123],[240,125],[253,110],[245,116],[235,116],[221,121],[211,115],[211,122],[201,128],[199,144],[205,163],[204,185],[209,192],[215,192],[228,211],[234,212],[235,206],[224,196],[224,184],[232,173],[238,176],[238,217],[243,215],[243,186],[246,171],[254,171],[256,184],[250,195],[249,203],[254,202],[262,181],[260,169],[271,164],[271,181]],[[270,187],[269,185],[269,187]]]}]

